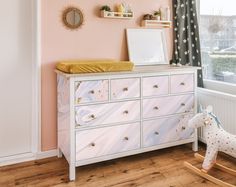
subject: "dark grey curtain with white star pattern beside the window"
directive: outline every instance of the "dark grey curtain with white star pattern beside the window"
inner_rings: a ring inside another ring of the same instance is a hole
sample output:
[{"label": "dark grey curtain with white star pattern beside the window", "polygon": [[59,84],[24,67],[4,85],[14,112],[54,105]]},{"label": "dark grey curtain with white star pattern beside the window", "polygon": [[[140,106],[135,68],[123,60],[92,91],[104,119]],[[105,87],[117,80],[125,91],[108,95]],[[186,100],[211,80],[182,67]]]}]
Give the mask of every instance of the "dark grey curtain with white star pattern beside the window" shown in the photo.
[{"label": "dark grey curtain with white star pattern beside the window", "polygon": [[[174,55],[173,62],[201,67],[199,27],[196,0],[173,0]],[[203,87],[202,70],[198,86]]]}]

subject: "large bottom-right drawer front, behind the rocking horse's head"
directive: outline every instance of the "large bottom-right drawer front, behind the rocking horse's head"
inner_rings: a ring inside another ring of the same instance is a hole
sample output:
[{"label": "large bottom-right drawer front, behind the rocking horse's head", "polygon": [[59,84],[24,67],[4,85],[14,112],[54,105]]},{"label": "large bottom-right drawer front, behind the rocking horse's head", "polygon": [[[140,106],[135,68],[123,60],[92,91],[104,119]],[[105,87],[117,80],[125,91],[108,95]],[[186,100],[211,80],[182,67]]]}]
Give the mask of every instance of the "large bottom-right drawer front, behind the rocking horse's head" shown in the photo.
[{"label": "large bottom-right drawer front, behind the rocking horse's head", "polygon": [[194,129],[188,128],[192,115],[162,118],[143,122],[143,146],[175,142],[194,137]]}]

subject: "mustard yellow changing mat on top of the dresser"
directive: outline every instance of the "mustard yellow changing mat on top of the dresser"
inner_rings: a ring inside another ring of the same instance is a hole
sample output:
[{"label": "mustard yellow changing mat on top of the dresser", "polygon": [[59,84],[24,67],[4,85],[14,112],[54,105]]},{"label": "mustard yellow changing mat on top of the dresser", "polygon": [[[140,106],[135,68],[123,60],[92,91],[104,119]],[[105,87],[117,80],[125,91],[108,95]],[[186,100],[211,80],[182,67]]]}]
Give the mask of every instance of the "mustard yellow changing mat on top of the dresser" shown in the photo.
[{"label": "mustard yellow changing mat on top of the dresser", "polygon": [[62,61],[56,65],[60,71],[70,74],[131,71],[134,64],[129,61],[90,60]]}]

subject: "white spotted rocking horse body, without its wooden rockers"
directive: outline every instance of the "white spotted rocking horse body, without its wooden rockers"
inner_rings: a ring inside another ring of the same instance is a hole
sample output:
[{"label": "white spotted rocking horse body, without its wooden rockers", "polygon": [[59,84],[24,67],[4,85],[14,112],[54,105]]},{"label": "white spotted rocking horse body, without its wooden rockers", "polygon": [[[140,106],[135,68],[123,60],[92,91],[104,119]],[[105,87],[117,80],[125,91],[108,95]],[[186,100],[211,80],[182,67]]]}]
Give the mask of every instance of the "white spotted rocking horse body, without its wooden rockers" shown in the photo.
[{"label": "white spotted rocking horse body, without its wooden rockers", "polygon": [[207,151],[202,168],[205,172],[209,171],[216,163],[218,151],[236,158],[236,135],[230,134],[222,128],[212,110],[212,106],[208,106],[188,123],[190,128],[204,127]]}]

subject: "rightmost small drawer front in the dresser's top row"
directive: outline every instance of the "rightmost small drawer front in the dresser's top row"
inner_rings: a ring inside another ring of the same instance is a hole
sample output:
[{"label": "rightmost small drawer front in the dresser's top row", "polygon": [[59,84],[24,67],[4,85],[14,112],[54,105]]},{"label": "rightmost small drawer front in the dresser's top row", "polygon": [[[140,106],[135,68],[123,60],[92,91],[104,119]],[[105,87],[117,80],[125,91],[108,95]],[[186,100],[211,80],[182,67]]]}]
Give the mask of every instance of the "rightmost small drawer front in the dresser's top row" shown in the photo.
[{"label": "rightmost small drawer front in the dresser's top row", "polygon": [[194,91],[194,74],[171,75],[171,93]]}]

